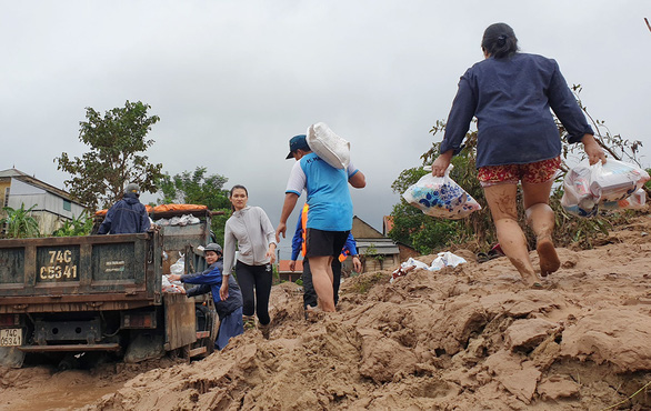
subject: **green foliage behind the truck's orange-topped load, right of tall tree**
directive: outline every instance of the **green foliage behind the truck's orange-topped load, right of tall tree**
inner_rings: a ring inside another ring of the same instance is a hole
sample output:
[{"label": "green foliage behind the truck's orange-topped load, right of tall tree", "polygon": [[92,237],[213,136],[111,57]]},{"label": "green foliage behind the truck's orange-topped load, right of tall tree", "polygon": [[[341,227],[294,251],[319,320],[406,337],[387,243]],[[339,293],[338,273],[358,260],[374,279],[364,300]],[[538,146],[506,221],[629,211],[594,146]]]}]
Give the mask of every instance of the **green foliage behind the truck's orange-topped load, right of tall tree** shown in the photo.
[{"label": "green foliage behind the truck's orange-topped load, right of tall tree", "polygon": [[211,229],[217,242],[223,245],[226,221],[231,215],[229,191],[223,188],[227,181],[228,178],[220,174],[207,176],[206,167],[173,177],[166,172],[157,183],[162,196],[158,203],[203,204],[211,211],[221,212],[212,215]]}]

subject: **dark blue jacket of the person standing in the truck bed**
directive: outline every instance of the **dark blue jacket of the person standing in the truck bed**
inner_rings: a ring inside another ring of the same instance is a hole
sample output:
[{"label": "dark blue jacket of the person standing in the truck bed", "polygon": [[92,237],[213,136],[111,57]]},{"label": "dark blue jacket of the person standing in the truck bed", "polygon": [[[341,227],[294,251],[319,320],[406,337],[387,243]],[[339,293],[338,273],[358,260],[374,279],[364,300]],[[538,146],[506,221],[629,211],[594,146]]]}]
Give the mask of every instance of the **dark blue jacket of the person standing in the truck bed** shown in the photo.
[{"label": "dark blue jacket of the person standing in the truck bed", "polygon": [[132,192],[124,193],[124,198],[111,207],[98,234],[131,234],[149,230],[147,209]]}]

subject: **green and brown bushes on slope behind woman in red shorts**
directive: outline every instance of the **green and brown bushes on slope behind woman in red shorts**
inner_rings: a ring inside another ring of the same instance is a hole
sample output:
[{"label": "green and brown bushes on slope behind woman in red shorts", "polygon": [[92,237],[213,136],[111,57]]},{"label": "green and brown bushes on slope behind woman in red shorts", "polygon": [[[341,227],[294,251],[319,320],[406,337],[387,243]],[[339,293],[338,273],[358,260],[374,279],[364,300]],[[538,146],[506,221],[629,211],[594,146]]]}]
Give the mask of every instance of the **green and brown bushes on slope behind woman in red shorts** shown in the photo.
[{"label": "green and brown bushes on slope behind woman in red shorts", "polygon": [[[605,122],[593,119],[581,103],[579,97],[581,86],[573,86],[572,91],[579,106],[592,123],[595,131],[595,140],[604,148],[608,156],[618,160],[624,159],[624,161],[635,162],[639,166],[637,156],[642,143],[638,140],[623,139],[619,134],[611,134],[610,130],[605,127]],[[608,234],[613,225],[625,223],[637,211],[621,210],[618,212],[600,213],[591,219],[582,219],[570,215],[563,210],[560,204],[562,179],[570,167],[584,159],[585,154],[582,151],[581,144],[568,144],[565,142],[567,131],[560,121],[557,120],[557,124],[563,138],[561,153],[563,161],[561,172],[558,176],[557,184],[550,198],[550,207],[554,210],[557,218],[554,241],[558,245],[575,243],[584,249],[592,248],[595,234]],[[444,129],[445,122],[437,121],[430,132],[435,136],[439,132],[443,132]],[[433,143],[430,150],[421,156],[422,164],[431,164],[438,157],[439,149],[440,142]],[[483,190],[477,178],[477,169],[474,166],[475,150],[477,131],[470,131],[465,136],[463,149],[452,159],[454,168],[450,172],[450,177],[481,204],[482,210],[473,212],[463,220],[451,221],[428,217],[401,199],[401,202],[395,204],[391,212],[393,229],[389,232],[389,235],[394,241],[409,244],[420,253],[431,253],[459,243],[464,243],[464,247],[474,249],[473,251],[485,251],[491,244],[497,242],[490,210],[488,209]],[[394,192],[402,193],[427,172],[421,167],[403,170],[391,188]],[[651,182],[647,183],[645,190],[648,193],[651,193]],[[521,192],[519,193],[520,221],[527,233],[529,245],[533,249],[535,247],[535,239],[533,238],[533,233],[524,224],[524,210],[520,197]]]}]

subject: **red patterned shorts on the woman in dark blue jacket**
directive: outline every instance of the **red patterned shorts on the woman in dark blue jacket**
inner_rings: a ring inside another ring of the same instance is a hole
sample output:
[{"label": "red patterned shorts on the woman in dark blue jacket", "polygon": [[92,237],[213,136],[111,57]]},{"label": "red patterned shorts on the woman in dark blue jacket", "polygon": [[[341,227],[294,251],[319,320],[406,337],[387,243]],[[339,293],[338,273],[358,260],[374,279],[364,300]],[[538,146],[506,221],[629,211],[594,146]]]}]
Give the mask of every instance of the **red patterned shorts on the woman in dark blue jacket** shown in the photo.
[{"label": "red patterned shorts on the woman in dark blue jacket", "polygon": [[481,182],[481,187],[500,183],[517,184],[518,181],[541,183],[553,180],[560,166],[560,157],[529,164],[488,166],[480,167],[477,177]]}]

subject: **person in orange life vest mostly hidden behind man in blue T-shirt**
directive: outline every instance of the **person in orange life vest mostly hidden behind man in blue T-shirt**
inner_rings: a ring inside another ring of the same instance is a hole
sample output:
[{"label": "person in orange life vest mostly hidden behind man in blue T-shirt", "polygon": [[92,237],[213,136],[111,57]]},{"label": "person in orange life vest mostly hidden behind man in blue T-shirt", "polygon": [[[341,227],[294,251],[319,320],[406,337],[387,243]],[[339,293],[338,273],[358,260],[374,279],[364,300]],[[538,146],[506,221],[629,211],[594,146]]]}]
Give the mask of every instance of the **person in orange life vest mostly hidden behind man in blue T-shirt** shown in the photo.
[{"label": "person in orange life vest mostly hidden behind man in blue T-shirt", "polygon": [[[307,309],[308,305],[317,307],[317,292],[314,291],[314,285],[312,284],[312,272],[310,271],[310,259],[306,257],[306,228],[308,224],[308,209],[309,206],[306,203],[303,206],[302,212],[299,215],[299,221],[297,222],[297,230],[294,232],[294,237],[291,240],[291,261],[289,263],[289,269],[291,271],[296,270],[297,259],[299,257],[299,252],[303,255],[303,308]],[[352,264],[353,270],[357,272],[361,272],[362,263],[359,259],[357,253],[357,243],[352,233],[348,234],[348,239],[345,240],[345,244],[341,250],[341,254],[339,258],[332,259],[332,293],[334,297],[334,305],[339,302],[339,284],[341,283],[341,263],[345,260],[348,255],[352,255]]]}]

